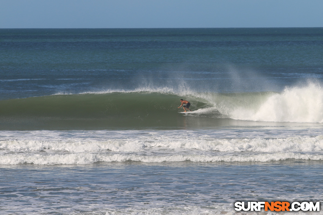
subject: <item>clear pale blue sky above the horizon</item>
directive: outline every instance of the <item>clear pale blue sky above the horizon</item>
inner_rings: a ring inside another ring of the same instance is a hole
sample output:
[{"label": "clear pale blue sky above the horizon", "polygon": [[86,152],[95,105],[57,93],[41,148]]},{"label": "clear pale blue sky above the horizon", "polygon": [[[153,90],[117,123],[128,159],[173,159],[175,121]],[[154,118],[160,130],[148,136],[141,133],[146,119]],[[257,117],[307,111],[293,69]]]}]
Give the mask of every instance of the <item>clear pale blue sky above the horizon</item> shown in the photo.
[{"label": "clear pale blue sky above the horizon", "polygon": [[323,27],[322,0],[0,0],[0,28]]}]

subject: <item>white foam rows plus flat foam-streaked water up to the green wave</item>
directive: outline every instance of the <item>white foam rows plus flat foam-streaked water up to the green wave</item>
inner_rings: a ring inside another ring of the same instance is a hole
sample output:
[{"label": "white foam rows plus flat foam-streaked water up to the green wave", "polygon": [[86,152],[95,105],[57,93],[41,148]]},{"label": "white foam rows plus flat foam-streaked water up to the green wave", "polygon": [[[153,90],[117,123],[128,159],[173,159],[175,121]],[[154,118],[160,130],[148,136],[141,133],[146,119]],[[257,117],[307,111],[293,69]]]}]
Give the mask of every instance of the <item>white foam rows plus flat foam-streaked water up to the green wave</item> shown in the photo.
[{"label": "white foam rows plus flat foam-streaked water up to the green wave", "polygon": [[323,160],[320,131],[2,131],[0,164]]}]

